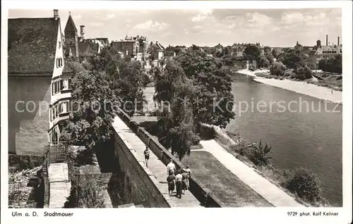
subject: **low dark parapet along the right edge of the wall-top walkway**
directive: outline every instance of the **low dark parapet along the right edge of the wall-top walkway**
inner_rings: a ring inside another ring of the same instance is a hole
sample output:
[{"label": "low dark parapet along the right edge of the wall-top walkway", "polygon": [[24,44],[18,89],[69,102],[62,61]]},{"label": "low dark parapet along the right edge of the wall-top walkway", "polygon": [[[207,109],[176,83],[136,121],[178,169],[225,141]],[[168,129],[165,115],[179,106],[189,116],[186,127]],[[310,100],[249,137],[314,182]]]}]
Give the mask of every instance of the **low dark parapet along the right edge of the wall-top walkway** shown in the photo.
[{"label": "low dark parapet along the right edge of the wall-top walkway", "polygon": [[[124,123],[128,125],[128,127],[131,128],[131,130],[140,137],[140,139],[148,145],[150,150],[157,156],[157,158],[164,163],[164,165],[167,166],[167,163],[169,163],[170,159],[174,161],[174,164],[177,169],[179,168],[185,168],[177,158],[172,156],[172,154],[169,153],[167,149],[165,149],[160,142],[155,141],[155,139],[152,138],[152,135],[148,133],[145,128],[143,127],[138,127],[138,124],[134,122],[124,111],[119,110],[119,117],[121,120],[124,120]],[[214,199],[211,194],[208,193],[208,189],[205,189],[201,183],[196,179],[196,178],[191,178],[190,179],[190,192],[198,199],[198,201],[201,201],[204,206],[206,207],[220,207],[220,201],[217,201],[217,199]]]}]

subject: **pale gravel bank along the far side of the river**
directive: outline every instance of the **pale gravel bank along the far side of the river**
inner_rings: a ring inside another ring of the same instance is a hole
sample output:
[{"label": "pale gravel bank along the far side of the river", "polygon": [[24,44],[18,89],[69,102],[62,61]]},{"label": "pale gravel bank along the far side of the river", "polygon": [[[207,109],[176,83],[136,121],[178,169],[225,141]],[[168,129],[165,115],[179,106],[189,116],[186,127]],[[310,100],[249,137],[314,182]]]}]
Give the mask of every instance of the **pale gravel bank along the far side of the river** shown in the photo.
[{"label": "pale gravel bank along the far side of the river", "polygon": [[342,92],[340,91],[331,90],[327,87],[320,87],[306,82],[300,82],[300,81],[294,81],[294,80],[268,79],[265,77],[257,77],[255,75],[255,73],[264,73],[268,71],[269,70],[251,71],[251,70],[243,69],[243,70],[238,70],[237,73],[253,76],[254,77],[253,80],[255,80],[256,82],[261,82],[263,84],[271,85],[273,87],[287,89],[292,92],[297,92],[300,94],[308,95],[310,97],[323,99],[328,102],[342,104]]}]

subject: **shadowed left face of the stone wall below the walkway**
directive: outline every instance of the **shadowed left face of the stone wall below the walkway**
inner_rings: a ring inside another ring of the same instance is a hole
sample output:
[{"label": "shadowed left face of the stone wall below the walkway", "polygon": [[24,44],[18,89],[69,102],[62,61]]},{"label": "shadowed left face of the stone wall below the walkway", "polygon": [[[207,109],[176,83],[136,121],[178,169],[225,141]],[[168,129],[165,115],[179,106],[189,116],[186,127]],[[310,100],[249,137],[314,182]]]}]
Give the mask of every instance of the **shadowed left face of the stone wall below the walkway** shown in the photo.
[{"label": "shadowed left face of the stone wall below the walkway", "polygon": [[[143,163],[124,137],[114,132],[114,153],[119,166],[112,175],[109,191],[114,206],[142,204],[147,208],[168,208],[167,200],[157,189],[157,180],[145,170]],[[117,192],[116,190],[117,189]]]}]

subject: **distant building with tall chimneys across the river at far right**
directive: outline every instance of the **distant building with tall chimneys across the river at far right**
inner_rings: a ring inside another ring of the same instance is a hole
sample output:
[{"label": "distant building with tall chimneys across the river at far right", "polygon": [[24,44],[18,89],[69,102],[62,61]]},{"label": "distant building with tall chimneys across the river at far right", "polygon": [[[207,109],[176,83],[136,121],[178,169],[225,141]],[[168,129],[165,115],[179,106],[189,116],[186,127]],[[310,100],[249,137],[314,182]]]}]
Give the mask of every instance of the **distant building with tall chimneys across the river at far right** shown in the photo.
[{"label": "distant building with tall chimneys across the river at far right", "polygon": [[330,58],[342,54],[342,44],[340,37],[337,37],[337,45],[328,45],[328,36],[326,35],[326,45],[321,45],[320,39],[316,41],[316,46],[309,53],[309,66],[311,69],[318,69],[318,62],[322,58]]}]

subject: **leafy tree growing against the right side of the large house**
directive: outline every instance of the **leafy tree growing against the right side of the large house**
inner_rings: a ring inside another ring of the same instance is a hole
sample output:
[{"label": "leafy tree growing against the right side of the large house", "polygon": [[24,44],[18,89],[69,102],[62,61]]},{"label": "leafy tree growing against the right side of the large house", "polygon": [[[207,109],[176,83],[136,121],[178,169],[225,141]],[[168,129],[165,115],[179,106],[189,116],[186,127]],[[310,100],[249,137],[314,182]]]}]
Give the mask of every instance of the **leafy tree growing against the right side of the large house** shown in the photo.
[{"label": "leafy tree growing against the right side of the large house", "polygon": [[114,99],[107,74],[85,70],[74,75],[71,86],[72,113],[61,139],[88,150],[96,149],[97,145],[109,141],[115,116],[109,106]]}]

